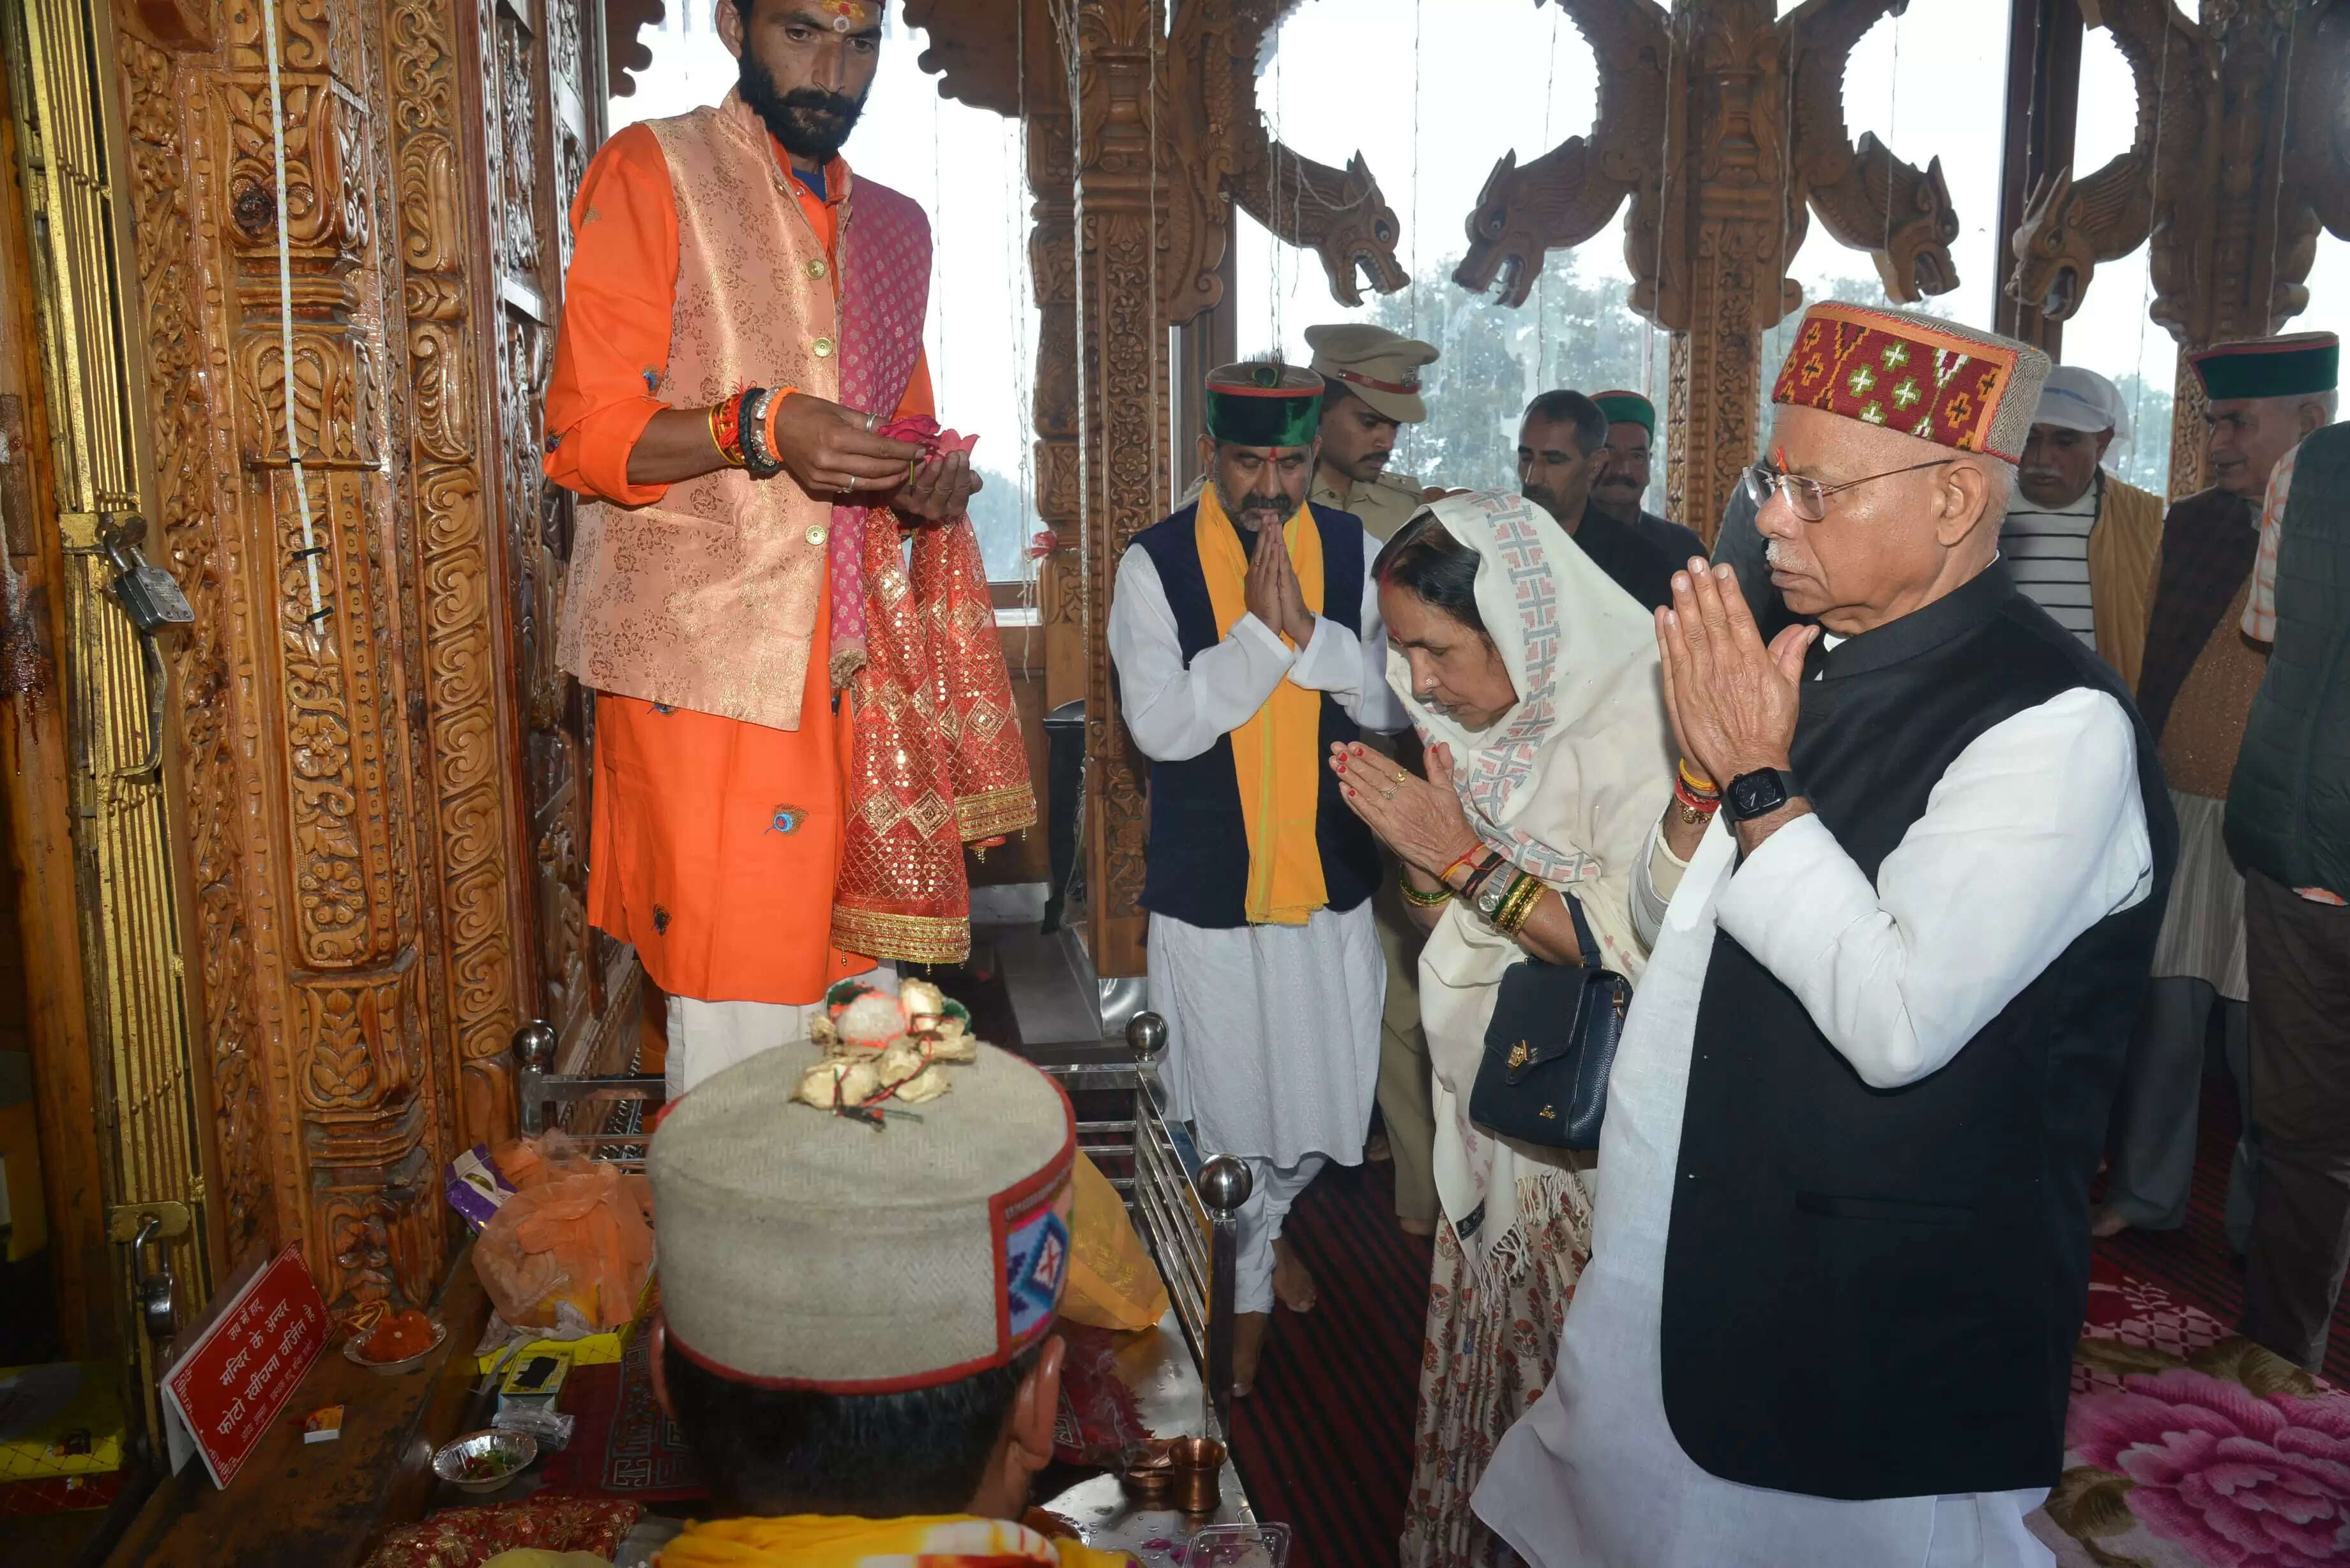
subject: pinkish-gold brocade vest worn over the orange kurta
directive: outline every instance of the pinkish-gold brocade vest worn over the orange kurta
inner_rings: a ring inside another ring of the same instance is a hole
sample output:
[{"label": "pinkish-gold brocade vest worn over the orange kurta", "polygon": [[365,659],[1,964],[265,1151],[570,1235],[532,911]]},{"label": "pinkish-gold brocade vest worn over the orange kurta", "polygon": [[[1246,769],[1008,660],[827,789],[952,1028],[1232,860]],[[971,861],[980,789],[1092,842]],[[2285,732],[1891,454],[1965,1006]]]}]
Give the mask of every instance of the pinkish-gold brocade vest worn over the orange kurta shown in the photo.
[{"label": "pinkish-gold brocade vest worn over the orange kurta", "polygon": [[[646,125],[677,200],[677,308],[653,395],[679,409],[743,386],[839,400],[832,261],[766,127],[733,92]],[[844,240],[851,205],[853,193],[839,202]],[[590,501],[557,663],[597,691],[799,729],[830,529],[830,498],[738,468],[644,508]]]}]

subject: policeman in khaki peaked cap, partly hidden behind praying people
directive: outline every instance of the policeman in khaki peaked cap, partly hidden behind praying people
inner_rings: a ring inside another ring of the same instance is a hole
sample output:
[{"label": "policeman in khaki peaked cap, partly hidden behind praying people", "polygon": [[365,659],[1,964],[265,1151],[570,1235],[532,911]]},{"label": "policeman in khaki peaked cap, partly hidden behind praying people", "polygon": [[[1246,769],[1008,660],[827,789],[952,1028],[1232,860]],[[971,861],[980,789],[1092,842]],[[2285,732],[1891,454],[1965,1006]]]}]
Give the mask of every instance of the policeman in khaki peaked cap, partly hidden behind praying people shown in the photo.
[{"label": "policeman in khaki peaked cap, partly hidden behind praying people", "polygon": [[1323,378],[1321,456],[1314,505],[1354,512],[1363,531],[1386,543],[1419,510],[1419,482],[1386,473],[1396,433],[1429,418],[1419,367],[1436,346],[1370,322],[1307,327],[1309,371]]}]

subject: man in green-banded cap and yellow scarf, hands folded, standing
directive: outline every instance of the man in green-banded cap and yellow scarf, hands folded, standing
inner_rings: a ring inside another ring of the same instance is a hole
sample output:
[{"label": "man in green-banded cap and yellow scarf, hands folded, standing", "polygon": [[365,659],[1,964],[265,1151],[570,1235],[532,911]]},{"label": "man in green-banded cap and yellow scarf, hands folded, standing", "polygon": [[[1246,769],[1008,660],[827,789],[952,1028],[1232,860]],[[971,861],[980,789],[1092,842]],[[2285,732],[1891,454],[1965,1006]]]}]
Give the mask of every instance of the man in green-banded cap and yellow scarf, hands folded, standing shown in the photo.
[{"label": "man in green-banded cap and yellow scarf, hands folded, standing", "polygon": [[1255,1378],[1278,1295],[1314,1276],[1276,1248],[1328,1159],[1358,1164],[1379,1079],[1386,964],[1370,827],[1323,766],[1361,729],[1403,729],[1363,524],[1307,501],[1323,378],[1208,374],[1208,484],[1119,562],[1109,658],[1152,759],[1142,907],[1161,1081],[1203,1154],[1248,1161],[1234,1378]]}]

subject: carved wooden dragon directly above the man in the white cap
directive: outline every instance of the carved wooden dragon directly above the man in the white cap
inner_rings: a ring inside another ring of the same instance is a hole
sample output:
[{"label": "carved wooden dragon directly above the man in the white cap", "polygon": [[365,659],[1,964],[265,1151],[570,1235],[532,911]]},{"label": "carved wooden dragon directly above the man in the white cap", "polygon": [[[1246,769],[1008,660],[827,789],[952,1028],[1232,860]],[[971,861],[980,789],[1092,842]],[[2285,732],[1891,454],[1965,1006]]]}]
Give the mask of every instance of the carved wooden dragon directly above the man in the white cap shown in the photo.
[{"label": "carved wooden dragon directly above the man in the white cap", "polygon": [[[2040,179],[2009,242],[2016,256],[2009,299],[2037,306],[2054,322],[2080,308],[2101,261],[2120,261],[2178,216],[2176,205],[2190,197],[2193,183],[2178,179],[2174,190],[2157,193],[2155,169],[2200,165],[2214,129],[2218,52],[2202,28],[2171,0],[2103,0],[2099,12],[2138,87],[2136,136],[2096,174],[2073,179],[2070,169],[2059,169]],[[2176,292],[2190,287],[2183,277],[2169,282]],[[2160,284],[2162,294],[2174,294]]]}]

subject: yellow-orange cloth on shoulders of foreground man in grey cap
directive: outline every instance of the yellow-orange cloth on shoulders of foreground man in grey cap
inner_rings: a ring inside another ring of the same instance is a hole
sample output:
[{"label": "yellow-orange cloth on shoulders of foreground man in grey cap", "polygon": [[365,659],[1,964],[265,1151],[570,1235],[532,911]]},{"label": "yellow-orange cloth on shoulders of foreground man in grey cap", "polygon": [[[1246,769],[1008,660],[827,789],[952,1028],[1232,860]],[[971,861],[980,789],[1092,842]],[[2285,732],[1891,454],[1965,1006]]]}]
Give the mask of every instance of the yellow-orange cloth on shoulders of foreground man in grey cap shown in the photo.
[{"label": "yellow-orange cloth on shoulders of foreground man in grey cap", "polygon": [[1001,1519],[710,1519],[660,1549],[658,1568],[1130,1568],[1123,1552],[1046,1540]]}]

